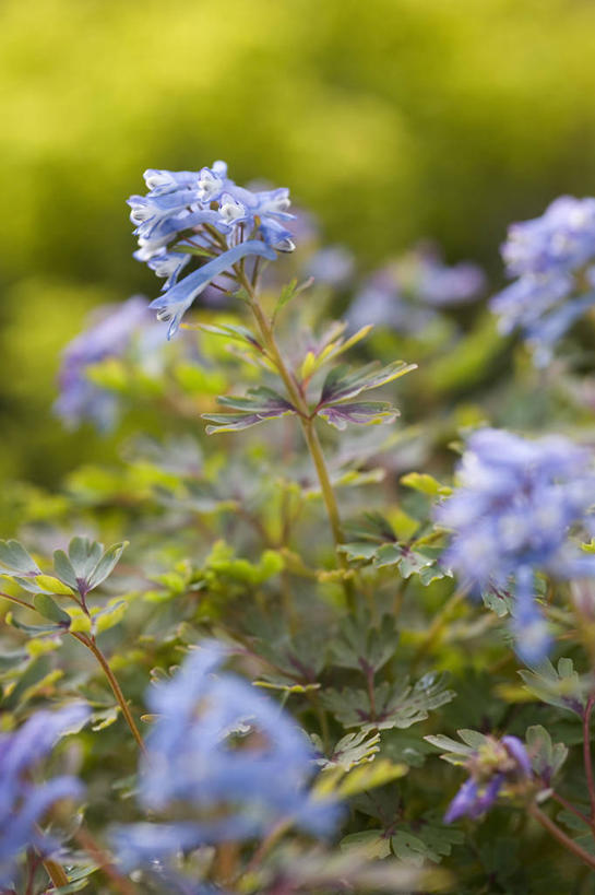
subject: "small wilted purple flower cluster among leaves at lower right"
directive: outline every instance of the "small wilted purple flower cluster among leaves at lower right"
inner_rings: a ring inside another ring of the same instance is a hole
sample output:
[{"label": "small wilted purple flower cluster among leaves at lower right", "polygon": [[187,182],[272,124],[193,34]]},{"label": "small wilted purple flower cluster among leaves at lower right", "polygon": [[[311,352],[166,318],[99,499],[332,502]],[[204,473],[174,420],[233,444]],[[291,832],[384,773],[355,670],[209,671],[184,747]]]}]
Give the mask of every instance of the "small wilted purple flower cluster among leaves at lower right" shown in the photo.
[{"label": "small wilted purple flower cluster among leaves at lower right", "polygon": [[450,824],[460,817],[477,820],[496,802],[503,789],[523,789],[532,778],[531,759],[517,737],[483,738],[463,762],[469,773],[444,814]]}]

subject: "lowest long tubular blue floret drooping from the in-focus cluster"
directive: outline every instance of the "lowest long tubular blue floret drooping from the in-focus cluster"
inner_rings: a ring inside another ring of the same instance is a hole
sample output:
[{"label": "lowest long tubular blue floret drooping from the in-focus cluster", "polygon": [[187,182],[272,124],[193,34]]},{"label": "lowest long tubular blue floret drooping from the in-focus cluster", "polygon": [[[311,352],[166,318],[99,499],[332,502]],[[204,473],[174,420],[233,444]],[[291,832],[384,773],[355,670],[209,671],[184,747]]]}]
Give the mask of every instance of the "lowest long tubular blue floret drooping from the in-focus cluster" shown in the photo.
[{"label": "lowest long tubular blue floret drooping from the in-focus cluster", "polygon": [[249,243],[239,243],[234,248],[228,249],[223,255],[207,261],[198,270],[189,273],[183,280],[176,283],[158,298],[155,298],[150,308],[157,311],[157,319],[169,322],[169,330],[167,338],[171,337],[178,331],[180,321],[192,304],[192,302],[213,282],[213,280],[225,271],[229,270],[241,258],[250,255],[260,255],[262,258],[269,260],[275,259],[275,252],[270,249],[264,243],[258,239],[251,239]]}]

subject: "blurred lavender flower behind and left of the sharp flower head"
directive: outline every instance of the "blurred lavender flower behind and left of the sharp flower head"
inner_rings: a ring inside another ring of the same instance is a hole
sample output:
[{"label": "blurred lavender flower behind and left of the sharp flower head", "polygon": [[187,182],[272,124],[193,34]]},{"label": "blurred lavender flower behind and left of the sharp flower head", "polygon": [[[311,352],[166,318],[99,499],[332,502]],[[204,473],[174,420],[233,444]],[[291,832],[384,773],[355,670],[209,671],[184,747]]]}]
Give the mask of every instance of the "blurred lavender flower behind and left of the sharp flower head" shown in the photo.
[{"label": "blurred lavender flower behind and left of the sharp flower head", "polygon": [[64,349],[58,376],[60,397],[53,410],[69,428],[87,420],[103,431],[114,426],[117,398],[95,385],[87,370],[107,357],[121,356],[135,335],[143,331],[150,334],[153,321],[147,308],[146,301],[138,295],[121,305],[105,305],[92,315],[91,326]]}]

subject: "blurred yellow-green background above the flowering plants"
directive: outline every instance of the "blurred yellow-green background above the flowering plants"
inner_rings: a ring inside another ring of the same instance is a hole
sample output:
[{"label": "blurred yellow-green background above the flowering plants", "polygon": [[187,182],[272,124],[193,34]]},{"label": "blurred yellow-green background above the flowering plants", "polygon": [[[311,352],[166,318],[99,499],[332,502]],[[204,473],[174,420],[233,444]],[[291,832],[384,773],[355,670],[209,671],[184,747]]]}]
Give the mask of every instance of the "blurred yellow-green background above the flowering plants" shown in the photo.
[{"label": "blurred yellow-green background above the flowering plants", "polygon": [[595,191],[591,0],[2,0],[0,470],[109,454],[52,421],[85,311],[159,283],[126,198],[225,158],[364,269],[419,237],[500,276],[512,220]]}]

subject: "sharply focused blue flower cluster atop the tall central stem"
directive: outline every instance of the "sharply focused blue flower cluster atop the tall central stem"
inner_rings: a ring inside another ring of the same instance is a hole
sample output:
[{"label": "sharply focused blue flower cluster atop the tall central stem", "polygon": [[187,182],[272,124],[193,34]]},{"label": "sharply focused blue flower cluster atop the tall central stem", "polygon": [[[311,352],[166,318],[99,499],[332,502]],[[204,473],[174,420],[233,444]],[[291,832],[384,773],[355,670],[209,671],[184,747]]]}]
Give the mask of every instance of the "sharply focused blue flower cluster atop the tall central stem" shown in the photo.
[{"label": "sharply focused blue flower cluster atop the tall central stem", "polygon": [[[285,225],[293,217],[288,189],[238,187],[227,177],[225,162],[199,172],[150,169],[144,179],[146,196],[128,200],[139,237],[134,257],[166,280],[164,294],[151,307],[169,322],[168,338],[206,286],[223,275],[235,278],[238,262],[274,260],[277,251],[294,249]],[[204,263],[179,281],[192,258]]]}]

